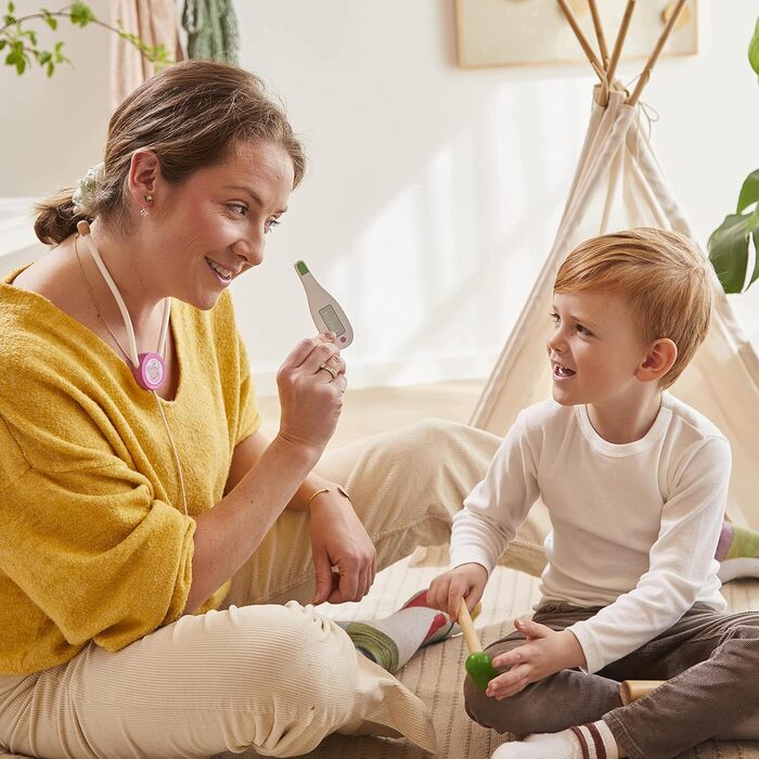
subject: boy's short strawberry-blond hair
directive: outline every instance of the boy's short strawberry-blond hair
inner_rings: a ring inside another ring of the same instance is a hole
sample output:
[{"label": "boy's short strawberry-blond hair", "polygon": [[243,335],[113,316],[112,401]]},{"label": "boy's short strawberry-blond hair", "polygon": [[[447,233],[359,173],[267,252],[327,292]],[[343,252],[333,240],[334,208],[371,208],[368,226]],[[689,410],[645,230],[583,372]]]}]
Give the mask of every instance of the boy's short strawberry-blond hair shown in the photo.
[{"label": "boy's short strawberry-blond hair", "polygon": [[645,343],[667,337],[678,346],[678,357],[660,381],[667,388],[709,330],[712,296],[707,266],[682,234],[640,227],[578,245],[562,263],[554,292],[609,292],[628,298]]}]

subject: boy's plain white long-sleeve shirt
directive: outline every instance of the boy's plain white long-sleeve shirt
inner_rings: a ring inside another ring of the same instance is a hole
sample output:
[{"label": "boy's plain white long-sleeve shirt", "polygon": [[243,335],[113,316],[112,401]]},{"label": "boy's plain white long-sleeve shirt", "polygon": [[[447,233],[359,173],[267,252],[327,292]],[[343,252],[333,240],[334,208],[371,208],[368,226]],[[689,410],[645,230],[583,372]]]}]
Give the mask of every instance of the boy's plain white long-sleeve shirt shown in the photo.
[{"label": "boy's plain white long-sleeve shirt", "polygon": [[695,602],[726,608],[713,556],[730,467],[719,429],[666,393],[648,433],[623,445],[604,440],[584,406],[532,406],[454,517],[451,566],[492,571],[540,497],[553,528],[540,603],[604,607],[568,628],[596,672]]}]

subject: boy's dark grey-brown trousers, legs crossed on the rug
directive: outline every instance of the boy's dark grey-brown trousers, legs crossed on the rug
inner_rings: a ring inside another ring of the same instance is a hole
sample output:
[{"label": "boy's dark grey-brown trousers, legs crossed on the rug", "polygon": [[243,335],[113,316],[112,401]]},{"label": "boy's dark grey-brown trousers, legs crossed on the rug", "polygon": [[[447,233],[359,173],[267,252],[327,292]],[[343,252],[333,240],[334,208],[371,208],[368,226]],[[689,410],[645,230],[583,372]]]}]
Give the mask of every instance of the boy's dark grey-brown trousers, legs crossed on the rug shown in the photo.
[{"label": "boy's dark grey-brown trousers, legs crossed on the rug", "polygon": [[[533,620],[564,630],[595,608],[543,604]],[[491,646],[497,656],[524,642],[514,632]],[[566,669],[504,700],[489,698],[469,679],[466,711],[500,733],[554,733],[602,719],[632,759],[674,757],[724,733],[759,707],[759,612],[717,614],[695,604],[669,630],[594,674]],[[622,706],[622,680],[667,680]]]}]

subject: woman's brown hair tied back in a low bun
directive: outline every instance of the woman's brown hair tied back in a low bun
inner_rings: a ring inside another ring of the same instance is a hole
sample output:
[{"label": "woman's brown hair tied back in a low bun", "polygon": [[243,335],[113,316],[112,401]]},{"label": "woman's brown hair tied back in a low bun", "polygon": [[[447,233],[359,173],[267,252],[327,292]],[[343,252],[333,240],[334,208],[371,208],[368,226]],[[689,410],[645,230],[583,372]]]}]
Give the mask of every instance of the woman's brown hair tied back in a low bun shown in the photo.
[{"label": "woman's brown hair tied back in a low bun", "polygon": [[297,186],[306,169],[303,146],[284,108],[261,79],[236,66],[185,61],[138,87],[114,111],[108,124],[104,170],[82,200],[65,188],[37,205],[35,232],[48,245],[65,240],[81,219],[100,217],[126,228],[127,178],[132,154],[152,150],[162,176],[179,183],[198,169],[223,160],[235,144],[267,140],[293,159]]}]

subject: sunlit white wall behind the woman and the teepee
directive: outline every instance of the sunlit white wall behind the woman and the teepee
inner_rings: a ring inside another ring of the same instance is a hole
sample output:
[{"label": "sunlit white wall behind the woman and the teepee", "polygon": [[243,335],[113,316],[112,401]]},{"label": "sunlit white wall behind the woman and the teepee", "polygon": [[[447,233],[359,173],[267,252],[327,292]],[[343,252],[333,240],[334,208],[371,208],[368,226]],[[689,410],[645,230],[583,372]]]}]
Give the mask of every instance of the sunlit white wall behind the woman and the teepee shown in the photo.
[{"label": "sunlit white wall behind the woman and the teepee", "polygon": [[[759,164],[750,5],[716,3],[702,54],[662,60],[644,95],[703,243]],[[242,64],[283,97],[310,155],[265,266],[233,285],[259,391],[273,391],[282,358],[313,331],[298,258],[351,318],[351,386],[486,376],[553,239],[590,107],[588,67],[460,70],[452,0],[236,8]],[[75,72],[23,86],[0,73],[0,103],[10,93],[15,113],[0,127],[3,152],[13,145],[0,195],[43,193],[99,159],[106,42],[76,34],[88,43],[69,48]],[[755,290],[741,306],[759,333]]]}]

